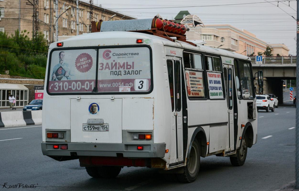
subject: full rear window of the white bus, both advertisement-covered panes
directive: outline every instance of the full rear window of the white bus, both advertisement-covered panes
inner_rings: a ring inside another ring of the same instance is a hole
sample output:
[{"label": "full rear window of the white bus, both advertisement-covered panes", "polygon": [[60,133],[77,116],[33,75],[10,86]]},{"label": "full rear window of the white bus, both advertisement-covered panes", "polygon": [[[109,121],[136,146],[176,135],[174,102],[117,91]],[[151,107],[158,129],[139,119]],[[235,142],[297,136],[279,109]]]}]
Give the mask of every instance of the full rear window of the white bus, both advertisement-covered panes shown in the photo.
[{"label": "full rear window of the white bus, both advertisement-covered panes", "polygon": [[147,47],[52,51],[48,92],[148,92],[151,90],[149,51]]}]

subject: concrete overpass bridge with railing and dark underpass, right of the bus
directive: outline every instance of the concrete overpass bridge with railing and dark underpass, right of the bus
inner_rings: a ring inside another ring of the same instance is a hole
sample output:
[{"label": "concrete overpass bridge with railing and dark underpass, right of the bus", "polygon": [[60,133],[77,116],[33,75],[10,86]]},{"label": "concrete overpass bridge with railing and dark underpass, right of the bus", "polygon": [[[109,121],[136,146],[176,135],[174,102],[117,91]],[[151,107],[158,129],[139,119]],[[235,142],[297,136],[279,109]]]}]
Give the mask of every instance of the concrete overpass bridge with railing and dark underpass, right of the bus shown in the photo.
[{"label": "concrete overpass bridge with railing and dark underpass, right of the bus", "polygon": [[283,80],[296,80],[296,56],[263,56],[262,64],[256,64],[255,56],[249,57],[253,75],[259,70],[263,71],[264,94],[275,94],[278,103],[283,103]]}]

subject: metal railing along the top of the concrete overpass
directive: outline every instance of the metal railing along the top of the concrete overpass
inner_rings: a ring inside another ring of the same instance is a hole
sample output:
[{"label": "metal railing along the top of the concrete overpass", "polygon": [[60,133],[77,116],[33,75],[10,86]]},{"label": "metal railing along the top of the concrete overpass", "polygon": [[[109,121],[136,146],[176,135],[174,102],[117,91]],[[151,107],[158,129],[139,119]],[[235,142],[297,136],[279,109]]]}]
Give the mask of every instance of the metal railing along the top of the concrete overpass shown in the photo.
[{"label": "metal railing along the top of the concrete overpass", "polygon": [[[255,64],[255,56],[248,56]],[[296,56],[263,56],[263,64],[296,64]]]}]

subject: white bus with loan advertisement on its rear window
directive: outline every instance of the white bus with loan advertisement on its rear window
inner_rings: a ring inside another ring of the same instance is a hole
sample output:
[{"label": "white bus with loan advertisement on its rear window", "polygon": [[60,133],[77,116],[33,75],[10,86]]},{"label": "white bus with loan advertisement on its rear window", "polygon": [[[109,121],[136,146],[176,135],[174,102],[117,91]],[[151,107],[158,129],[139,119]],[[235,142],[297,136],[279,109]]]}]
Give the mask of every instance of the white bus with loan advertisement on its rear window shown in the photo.
[{"label": "white bus with loan advertisement on its rear window", "polygon": [[[124,21],[102,27],[113,22]],[[244,164],[257,142],[249,57],[154,33],[108,30],[50,45],[43,155],[79,159],[97,178],[147,166],[182,182],[196,179],[200,157]]]}]

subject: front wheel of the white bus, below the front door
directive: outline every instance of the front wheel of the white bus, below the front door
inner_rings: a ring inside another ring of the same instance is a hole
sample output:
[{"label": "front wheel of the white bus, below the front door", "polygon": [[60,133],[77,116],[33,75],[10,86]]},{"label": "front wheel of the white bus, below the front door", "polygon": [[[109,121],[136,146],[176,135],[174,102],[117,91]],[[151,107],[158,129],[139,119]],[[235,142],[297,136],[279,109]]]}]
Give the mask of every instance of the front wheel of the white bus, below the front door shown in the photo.
[{"label": "front wheel of the white bus, below the front door", "polygon": [[233,166],[242,166],[245,163],[246,156],[247,156],[247,135],[244,134],[244,137],[242,139],[241,147],[239,150],[237,150],[237,157],[230,157],[231,164]]}]

